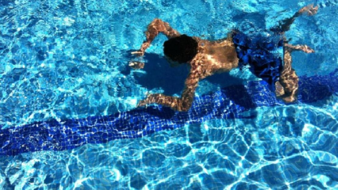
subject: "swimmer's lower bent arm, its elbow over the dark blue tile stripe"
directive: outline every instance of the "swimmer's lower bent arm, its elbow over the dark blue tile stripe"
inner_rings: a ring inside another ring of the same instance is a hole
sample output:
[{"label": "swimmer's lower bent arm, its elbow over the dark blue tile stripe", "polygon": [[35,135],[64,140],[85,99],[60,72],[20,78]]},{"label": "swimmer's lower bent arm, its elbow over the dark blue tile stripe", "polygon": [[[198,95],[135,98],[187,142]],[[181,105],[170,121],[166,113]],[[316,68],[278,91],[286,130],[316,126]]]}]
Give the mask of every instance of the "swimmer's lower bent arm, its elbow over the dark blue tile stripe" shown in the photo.
[{"label": "swimmer's lower bent arm, its elbow over the dark blue tile stripe", "polygon": [[168,106],[176,111],[188,111],[192,105],[195,96],[195,90],[198,86],[198,81],[199,78],[190,73],[185,81],[185,88],[181,97],[167,96],[164,94],[150,94],[146,99],[141,100],[138,103],[138,106],[156,103]]}]

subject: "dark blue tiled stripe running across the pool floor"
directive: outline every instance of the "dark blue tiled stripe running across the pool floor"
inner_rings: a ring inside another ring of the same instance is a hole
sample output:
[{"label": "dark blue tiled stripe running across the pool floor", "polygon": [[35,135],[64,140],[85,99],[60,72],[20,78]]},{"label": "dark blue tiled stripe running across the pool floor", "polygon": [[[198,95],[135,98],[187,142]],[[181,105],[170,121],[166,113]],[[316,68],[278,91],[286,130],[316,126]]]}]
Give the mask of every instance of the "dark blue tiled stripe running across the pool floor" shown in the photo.
[{"label": "dark blue tiled stripe running across the pool floor", "polygon": [[[299,82],[298,102],[310,103],[338,90],[335,72],[325,76],[303,76]],[[114,139],[138,138],[184,124],[213,118],[252,118],[241,115],[259,106],[282,105],[268,90],[265,81],[250,81],[196,97],[189,112],[174,112],[162,106],[149,106],[110,116],[70,119],[61,122],[35,122],[0,130],[0,155],[40,150],[73,149],[87,143],[104,143]]]}]

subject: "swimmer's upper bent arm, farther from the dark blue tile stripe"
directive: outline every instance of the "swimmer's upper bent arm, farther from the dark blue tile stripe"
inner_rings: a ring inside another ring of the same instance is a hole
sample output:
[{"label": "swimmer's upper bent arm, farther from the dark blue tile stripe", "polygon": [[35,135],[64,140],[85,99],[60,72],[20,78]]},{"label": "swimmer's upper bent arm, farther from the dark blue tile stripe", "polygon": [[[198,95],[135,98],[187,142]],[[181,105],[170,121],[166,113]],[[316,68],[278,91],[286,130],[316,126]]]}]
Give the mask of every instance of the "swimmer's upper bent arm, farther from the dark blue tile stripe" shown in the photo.
[{"label": "swimmer's upper bent arm, farther from the dark blue tile stripe", "polygon": [[132,54],[143,55],[144,51],[150,46],[150,43],[155,39],[155,37],[163,32],[168,38],[177,37],[180,35],[175,29],[173,29],[169,23],[163,22],[161,19],[154,19],[149,25],[146,31],[146,40],[141,45],[140,51],[132,52]]}]

